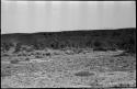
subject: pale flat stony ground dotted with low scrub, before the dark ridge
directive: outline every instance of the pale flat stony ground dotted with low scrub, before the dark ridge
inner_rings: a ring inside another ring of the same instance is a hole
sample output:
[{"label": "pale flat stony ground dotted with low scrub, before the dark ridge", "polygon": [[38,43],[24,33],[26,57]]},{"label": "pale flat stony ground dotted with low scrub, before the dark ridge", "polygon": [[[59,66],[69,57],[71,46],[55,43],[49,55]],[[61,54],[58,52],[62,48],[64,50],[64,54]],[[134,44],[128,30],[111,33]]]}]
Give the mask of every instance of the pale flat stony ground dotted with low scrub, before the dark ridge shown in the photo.
[{"label": "pale flat stony ground dotted with low scrub, before the dark ridge", "polygon": [[[38,53],[45,53],[39,51]],[[136,87],[136,56],[122,51],[1,57],[1,88]],[[28,58],[25,60],[24,58]],[[20,59],[19,63],[10,63]]]}]

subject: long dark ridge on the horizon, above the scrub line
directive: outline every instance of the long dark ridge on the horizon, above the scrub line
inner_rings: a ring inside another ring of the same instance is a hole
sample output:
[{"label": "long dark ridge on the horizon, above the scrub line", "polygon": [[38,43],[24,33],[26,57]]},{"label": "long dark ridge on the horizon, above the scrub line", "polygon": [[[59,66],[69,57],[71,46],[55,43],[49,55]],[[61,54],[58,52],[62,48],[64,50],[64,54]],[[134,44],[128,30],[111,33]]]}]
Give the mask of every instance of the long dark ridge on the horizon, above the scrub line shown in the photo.
[{"label": "long dark ridge on the horizon, above the scrub line", "polygon": [[12,33],[1,34],[1,44],[20,43],[24,45],[41,45],[44,47],[95,47],[95,43],[102,47],[114,47],[122,49],[135,49],[136,29],[115,30],[79,30],[61,32],[38,33]]}]

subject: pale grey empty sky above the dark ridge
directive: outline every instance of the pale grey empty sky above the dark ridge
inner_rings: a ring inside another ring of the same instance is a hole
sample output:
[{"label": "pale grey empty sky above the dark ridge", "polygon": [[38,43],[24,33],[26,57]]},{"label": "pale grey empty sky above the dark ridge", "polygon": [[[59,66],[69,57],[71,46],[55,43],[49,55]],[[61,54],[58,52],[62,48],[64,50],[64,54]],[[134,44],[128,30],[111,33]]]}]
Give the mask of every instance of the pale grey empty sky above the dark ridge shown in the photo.
[{"label": "pale grey empty sky above the dark ridge", "polygon": [[136,27],[134,1],[1,1],[1,33]]}]

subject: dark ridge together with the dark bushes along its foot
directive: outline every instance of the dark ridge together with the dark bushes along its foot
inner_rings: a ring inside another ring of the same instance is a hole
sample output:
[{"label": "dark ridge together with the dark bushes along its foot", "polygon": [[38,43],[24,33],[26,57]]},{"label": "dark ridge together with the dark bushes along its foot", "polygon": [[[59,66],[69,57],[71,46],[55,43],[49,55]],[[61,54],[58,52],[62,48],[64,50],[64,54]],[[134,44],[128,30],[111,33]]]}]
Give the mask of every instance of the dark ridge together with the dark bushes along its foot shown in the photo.
[{"label": "dark ridge together with the dark bushes along its foot", "polygon": [[15,54],[46,47],[55,49],[89,47],[94,51],[124,49],[127,53],[136,53],[136,29],[2,34],[1,51],[7,52],[11,47],[15,48]]}]

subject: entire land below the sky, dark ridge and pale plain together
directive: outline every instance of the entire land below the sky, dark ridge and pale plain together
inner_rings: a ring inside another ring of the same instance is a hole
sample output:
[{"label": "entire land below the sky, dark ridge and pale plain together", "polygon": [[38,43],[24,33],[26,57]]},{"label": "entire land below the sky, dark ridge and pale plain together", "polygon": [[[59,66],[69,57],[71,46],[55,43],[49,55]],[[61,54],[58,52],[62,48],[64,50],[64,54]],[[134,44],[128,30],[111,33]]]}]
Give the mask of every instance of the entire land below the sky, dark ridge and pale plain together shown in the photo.
[{"label": "entire land below the sky, dark ridge and pale plain together", "polygon": [[135,88],[136,29],[1,35],[1,88]]}]

